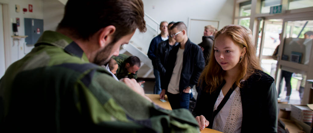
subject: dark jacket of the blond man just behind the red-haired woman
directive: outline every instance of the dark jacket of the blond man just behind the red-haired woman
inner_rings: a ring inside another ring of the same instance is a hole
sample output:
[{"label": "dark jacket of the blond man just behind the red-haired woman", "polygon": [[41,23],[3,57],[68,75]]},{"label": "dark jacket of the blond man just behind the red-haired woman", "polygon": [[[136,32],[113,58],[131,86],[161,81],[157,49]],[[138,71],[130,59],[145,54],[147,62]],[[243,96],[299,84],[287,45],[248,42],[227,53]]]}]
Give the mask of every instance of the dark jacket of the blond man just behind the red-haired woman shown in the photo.
[{"label": "dark jacket of the blond man just behind the red-haired woman", "polygon": [[213,42],[214,42],[213,36],[203,36],[202,42],[198,44],[200,47],[204,48],[203,57],[204,57],[205,65],[208,65],[209,63],[208,61],[209,61],[210,54],[212,51]]}]

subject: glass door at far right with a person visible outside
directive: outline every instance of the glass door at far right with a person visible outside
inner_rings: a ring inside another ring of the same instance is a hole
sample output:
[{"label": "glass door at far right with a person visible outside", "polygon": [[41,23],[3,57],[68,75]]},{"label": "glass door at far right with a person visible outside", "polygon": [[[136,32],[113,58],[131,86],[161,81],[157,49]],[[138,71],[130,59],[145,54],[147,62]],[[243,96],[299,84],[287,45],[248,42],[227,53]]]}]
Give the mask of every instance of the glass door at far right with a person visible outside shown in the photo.
[{"label": "glass door at far right with a person visible outside", "polygon": [[[276,89],[282,99],[291,104],[307,104],[312,101],[313,79],[313,18],[285,19],[277,59]],[[284,79],[284,80],[283,80]]]}]

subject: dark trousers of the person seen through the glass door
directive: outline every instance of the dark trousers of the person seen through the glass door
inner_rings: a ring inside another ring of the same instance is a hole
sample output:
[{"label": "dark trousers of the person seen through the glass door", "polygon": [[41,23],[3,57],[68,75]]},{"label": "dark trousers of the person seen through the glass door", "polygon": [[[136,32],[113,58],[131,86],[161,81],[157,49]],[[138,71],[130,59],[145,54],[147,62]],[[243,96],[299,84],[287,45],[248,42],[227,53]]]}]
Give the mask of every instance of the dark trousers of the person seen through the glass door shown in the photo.
[{"label": "dark trousers of the person seen through the glass door", "polygon": [[285,78],[286,87],[287,87],[287,94],[286,94],[286,96],[290,96],[290,94],[291,94],[291,83],[290,83],[291,76],[292,76],[292,72],[281,70],[281,78],[280,78],[280,82],[279,82],[279,86],[278,86],[278,92],[277,92],[278,97],[279,97],[279,94],[280,94],[280,90],[282,89],[281,85],[282,85],[283,77]]}]

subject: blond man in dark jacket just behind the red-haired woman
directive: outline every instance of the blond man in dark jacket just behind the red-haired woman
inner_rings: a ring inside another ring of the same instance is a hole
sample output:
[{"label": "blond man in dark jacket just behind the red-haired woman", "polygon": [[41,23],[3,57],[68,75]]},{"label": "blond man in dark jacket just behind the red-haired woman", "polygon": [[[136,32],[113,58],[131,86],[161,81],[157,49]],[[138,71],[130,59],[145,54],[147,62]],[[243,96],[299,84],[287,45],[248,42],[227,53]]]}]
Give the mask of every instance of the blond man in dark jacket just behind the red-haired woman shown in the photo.
[{"label": "blond man in dark jacket just behind the red-haired woman", "polygon": [[213,33],[215,32],[215,27],[213,25],[208,25],[204,27],[202,42],[198,45],[201,47],[203,51],[203,57],[205,60],[205,65],[209,63],[209,57],[212,50],[214,37]]}]

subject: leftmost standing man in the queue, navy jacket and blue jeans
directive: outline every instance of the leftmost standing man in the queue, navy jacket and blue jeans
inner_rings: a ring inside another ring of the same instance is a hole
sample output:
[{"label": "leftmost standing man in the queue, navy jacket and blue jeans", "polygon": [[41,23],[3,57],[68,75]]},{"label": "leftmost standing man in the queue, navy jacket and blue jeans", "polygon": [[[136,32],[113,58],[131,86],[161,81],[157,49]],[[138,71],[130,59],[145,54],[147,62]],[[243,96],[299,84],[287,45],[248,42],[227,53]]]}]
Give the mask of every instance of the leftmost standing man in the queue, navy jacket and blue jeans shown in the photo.
[{"label": "leftmost standing man in the queue, navy jacket and blue jeans", "polygon": [[148,57],[151,59],[153,65],[153,74],[156,78],[153,94],[160,94],[161,92],[160,73],[157,70],[155,49],[160,42],[168,39],[167,25],[168,23],[166,21],[161,22],[160,24],[161,34],[152,39],[148,51]]}]

